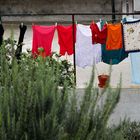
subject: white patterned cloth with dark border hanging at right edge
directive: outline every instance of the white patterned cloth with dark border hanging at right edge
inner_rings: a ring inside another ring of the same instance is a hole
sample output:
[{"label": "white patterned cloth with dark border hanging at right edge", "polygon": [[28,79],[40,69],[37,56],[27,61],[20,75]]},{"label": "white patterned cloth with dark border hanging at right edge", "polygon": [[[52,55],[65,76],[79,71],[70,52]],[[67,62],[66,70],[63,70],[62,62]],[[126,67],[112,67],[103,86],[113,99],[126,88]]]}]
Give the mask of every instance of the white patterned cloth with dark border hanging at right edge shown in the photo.
[{"label": "white patterned cloth with dark border hanging at right edge", "polygon": [[125,51],[140,51],[140,20],[123,24]]}]

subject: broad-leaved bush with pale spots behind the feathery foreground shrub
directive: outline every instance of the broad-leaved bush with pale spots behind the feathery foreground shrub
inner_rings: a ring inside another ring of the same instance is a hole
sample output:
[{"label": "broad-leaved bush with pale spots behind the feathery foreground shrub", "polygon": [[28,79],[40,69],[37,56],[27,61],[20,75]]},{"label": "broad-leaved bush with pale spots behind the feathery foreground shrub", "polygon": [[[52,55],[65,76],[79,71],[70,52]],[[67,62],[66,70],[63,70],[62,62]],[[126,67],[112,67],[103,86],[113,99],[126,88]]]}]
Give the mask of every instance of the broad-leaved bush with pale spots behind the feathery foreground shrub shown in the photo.
[{"label": "broad-leaved bush with pale spots behind the feathery foreground shrub", "polygon": [[[15,49],[17,48],[17,42],[13,39],[13,35],[11,35],[11,37],[7,40],[4,40],[3,47],[5,48],[6,58],[10,63],[12,59],[15,59]],[[67,85],[69,87],[74,86],[75,83],[73,66],[69,61],[60,59],[60,56],[58,54],[52,53],[52,56],[50,57],[42,58],[41,56],[38,56],[36,59],[33,59],[31,51],[28,49],[27,53],[21,54],[21,59],[18,60],[18,63],[19,61],[21,61],[21,63],[25,64],[23,61],[31,62],[30,59],[32,59],[31,61],[34,61],[35,63],[38,63],[44,59],[43,61],[46,69],[51,69],[51,67],[53,67],[55,71],[54,74],[60,75],[59,86],[62,86],[64,84],[64,81],[67,81]]]}]

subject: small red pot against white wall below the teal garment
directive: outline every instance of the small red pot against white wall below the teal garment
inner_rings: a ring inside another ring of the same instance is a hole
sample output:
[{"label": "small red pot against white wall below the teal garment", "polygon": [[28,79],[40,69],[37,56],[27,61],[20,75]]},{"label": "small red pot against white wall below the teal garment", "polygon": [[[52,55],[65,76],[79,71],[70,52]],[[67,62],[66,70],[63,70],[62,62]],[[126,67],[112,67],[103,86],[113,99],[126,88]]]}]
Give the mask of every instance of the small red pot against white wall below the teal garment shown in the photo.
[{"label": "small red pot against white wall below the teal garment", "polygon": [[107,81],[109,80],[109,75],[99,75],[98,76],[99,84],[98,86],[101,88],[104,88],[107,84]]}]

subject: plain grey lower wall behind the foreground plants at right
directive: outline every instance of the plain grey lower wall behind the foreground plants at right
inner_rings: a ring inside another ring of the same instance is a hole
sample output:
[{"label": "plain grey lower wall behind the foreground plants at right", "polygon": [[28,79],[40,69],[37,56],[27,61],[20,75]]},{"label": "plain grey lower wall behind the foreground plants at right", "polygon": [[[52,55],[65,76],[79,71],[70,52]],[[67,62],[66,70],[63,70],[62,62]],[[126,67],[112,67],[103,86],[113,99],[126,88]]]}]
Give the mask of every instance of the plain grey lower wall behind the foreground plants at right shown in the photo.
[{"label": "plain grey lower wall behind the foreground plants at right", "polygon": [[[116,90],[116,89],[115,89]],[[100,90],[99,90],[100,91]],[[78,100],[80,101],[84,95],[83,89],[77,89]],[[94,94],[94,93],[93,93]],[[104,106],[106,93],[98,100],[100,109]],[[108,126],[118,125],[120,121],[129,119],[130,121],[140,122],[140,90],[139,89],[122,89],[120,101],[114,108]]]}]

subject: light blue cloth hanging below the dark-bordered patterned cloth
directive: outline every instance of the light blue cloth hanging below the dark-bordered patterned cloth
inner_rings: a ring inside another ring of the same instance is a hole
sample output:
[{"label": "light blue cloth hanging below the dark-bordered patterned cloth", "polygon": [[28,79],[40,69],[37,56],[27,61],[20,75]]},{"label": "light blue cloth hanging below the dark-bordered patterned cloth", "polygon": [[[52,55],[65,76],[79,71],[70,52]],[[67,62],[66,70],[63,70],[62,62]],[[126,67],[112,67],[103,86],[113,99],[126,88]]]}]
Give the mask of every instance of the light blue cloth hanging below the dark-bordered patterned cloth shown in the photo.
[{"label": "light blue cloth hanging below the dark-bordered patterned cloth", "polygon": [[140,52],[130,53],[132,82],[140,84]]}]

